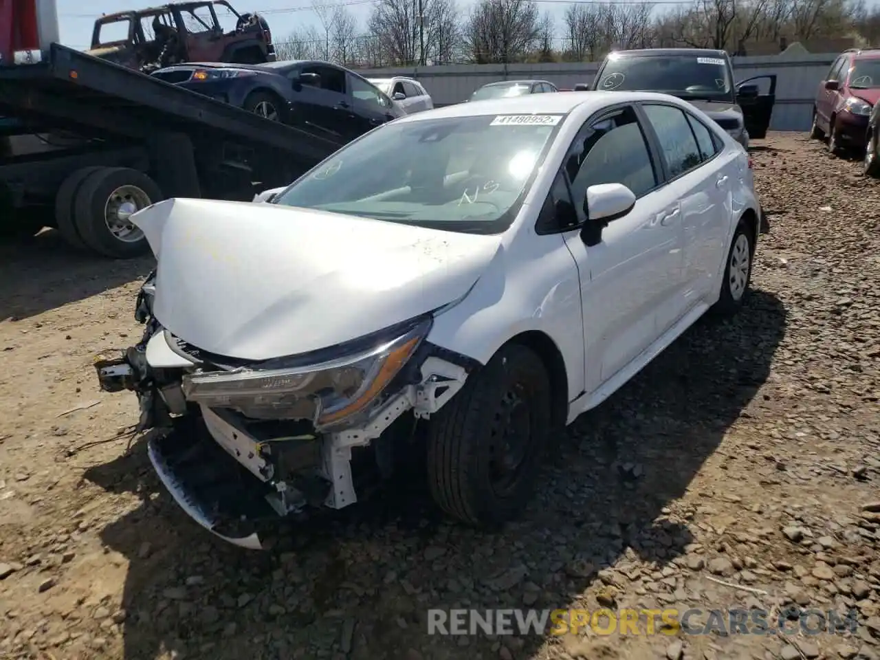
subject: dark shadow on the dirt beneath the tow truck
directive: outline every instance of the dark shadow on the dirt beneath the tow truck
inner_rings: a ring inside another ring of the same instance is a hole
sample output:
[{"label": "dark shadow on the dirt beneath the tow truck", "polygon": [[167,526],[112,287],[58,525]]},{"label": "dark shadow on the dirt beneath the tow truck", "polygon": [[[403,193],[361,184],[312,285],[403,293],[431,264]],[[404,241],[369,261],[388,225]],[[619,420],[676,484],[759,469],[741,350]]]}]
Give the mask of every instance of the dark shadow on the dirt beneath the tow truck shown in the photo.
[{"label": "dark shadow on the dirt beneath the tow truck", "polygon": [[153,261],[77,252],[51,229],[0,238],[0,321],[26,319],[145,277]]}]

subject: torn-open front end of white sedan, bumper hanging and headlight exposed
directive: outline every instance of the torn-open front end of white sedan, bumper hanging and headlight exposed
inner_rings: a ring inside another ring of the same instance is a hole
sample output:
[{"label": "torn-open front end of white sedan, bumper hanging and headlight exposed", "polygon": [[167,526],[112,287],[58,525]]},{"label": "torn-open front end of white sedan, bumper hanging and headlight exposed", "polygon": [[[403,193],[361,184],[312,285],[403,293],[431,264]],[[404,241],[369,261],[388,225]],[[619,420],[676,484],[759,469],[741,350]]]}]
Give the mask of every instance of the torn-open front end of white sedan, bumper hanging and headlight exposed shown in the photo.
[{"label": "torn-open front end of white sedan, bumper hanging and headlight exposed", "polygon": [[383,434],[401,415],[436,412],[473,366],[424,341],[433,314],[303,356],[211,355],[155,319],[155,279],[137,298],[142,340],[95,361],[99,384],[136,392],[136,430],[152,430],[160,480],[196,522],[238,546],[259,549],[264,527],[310,507],[355,503],[352,450],[381,438],[375,466],[388,473]]}]

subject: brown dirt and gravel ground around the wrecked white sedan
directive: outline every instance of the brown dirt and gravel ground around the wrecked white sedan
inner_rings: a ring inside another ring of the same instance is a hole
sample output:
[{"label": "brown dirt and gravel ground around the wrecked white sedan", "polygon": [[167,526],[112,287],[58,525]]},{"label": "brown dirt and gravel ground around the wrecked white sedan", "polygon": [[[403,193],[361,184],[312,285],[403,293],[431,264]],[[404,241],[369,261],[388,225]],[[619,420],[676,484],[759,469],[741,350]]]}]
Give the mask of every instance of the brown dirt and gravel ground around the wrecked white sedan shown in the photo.
[{"label": "brown dirt and gravel ground around the wrecked white sedan", "polygon": [[[114,439],[136,400],[92,370],[139,338],[151,260],[79,256],[52,231],[0,247],[0,657],[876,660],[880,181],[801,135],[753,157],[773,229],[744,311],[700,322],[556,438],[531,509],[498,534],[410,484],[268,552],[214,539],[143,444]],[[858,625],[427,634],[429,608],[598,604]]]}]

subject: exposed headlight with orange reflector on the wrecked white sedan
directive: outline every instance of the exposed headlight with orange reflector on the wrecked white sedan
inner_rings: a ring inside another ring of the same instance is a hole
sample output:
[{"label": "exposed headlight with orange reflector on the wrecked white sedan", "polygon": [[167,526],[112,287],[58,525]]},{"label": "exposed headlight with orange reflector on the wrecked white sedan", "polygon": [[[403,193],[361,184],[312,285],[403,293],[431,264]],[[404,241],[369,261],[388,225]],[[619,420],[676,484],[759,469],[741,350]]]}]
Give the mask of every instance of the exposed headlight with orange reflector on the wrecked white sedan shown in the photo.
[{"label": "exposed headlight with orange reflector on the wrecked white sedan", "polygon": [[420,319],[391,339],[386,335],[368,348],[320,363],[285,366],[297,360],[291,357],[259,368],[196,371],[183,377],[183,392],[207,407],[233,408],[256,419],[309,419],[326,429],[350,422],[377,400],[430,326],[430,318]]}]

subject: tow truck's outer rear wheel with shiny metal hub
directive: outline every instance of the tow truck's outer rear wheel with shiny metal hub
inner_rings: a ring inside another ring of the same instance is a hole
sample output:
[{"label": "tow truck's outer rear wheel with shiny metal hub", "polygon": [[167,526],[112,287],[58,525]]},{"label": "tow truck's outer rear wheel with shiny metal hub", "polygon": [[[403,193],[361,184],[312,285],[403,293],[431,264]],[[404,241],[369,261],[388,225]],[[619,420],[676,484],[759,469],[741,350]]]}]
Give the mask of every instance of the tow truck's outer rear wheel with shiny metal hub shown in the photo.
[{"label": "tow truck's outer rear wheel with shiny metal hub", "polygon": [[128,259],[150,249],[143,231],[129,217],[162,200],[156,183],[128,167],[102,167],[77,191],[74,219],[85,245],[115,259]]}]

